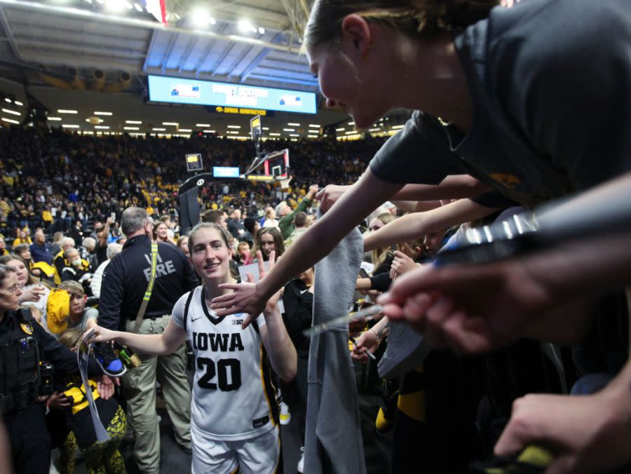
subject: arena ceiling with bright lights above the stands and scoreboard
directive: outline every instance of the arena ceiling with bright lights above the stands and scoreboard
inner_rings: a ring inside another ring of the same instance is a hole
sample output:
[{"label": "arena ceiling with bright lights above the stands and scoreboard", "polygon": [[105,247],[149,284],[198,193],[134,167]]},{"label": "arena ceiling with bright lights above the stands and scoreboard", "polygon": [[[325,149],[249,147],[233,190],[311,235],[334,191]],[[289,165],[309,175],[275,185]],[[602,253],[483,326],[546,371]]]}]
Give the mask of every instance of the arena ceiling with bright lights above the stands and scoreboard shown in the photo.
[{"label": "arena ceiling with bright lights above the stands and scoreboard", "polygon": [[[94,112],[109,111],[99,118],[100,130],[122,131],[130,120],[142,122],[139,133],[174,122],[223,135],[228,125],[245,126],[250,118],[145,105],[149,74],[317,92],[300,53],[307,0],[166,0],[168,25],[145,1],[0,0],[0,77],[25,86],[50,115],[77,111],[60,123],[91,130]],[[309,124],[348,121],[323,110],[318,97],[316,116],[276,113],[265,119],[269,131],[285,133],[287,123],[301,123],[294,133],[303,136]]]}]

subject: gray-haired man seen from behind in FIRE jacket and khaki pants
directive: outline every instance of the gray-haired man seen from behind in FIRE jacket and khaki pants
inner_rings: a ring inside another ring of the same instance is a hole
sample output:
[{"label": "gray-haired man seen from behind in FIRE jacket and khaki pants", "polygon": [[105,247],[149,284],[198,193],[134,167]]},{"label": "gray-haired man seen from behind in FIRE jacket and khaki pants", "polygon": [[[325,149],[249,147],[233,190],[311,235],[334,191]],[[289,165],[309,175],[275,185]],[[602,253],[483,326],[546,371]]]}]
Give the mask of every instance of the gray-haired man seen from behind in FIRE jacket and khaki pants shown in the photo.
[{"label": "gray-haired man seen from behind in FIRE jacket and khaki pants", "polygon": [[[121,229],[128,241],[123,251],[107,265],[101,286],[98,323],[111,330],[135,331],[138,310],[149,286],[152,268],[153,224],[147,211],[127,208]],[[157,243],[154,287],[147,310],[136,332],[161,334],[182,294],[197,285],[193,267],[184,253],[170,243]],[[191,389],[186,380],[186,346],[170,355],[138,354],[142,360],[123,375],[123,395],[130,426],[135,434],[134,455],[144,473],[160,469],[160,435],[156,414],[156,375],[173,423],[175,439],[182,449],[191,449]]]}]

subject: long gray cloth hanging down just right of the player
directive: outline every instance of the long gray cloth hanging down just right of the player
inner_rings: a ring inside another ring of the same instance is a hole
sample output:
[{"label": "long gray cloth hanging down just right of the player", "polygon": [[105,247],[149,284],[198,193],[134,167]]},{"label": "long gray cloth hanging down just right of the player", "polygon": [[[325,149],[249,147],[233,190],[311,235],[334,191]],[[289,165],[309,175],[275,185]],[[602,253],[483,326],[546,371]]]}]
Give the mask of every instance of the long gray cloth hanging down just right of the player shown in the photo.
[{"label": "long gray cloth hanging down just right of the player", "polygon": [[[313,324],[348,313],[363,246],[354,229],[315,265]],[[365,474],[348,324],[311,338],[304,438],[305,473]]]}]

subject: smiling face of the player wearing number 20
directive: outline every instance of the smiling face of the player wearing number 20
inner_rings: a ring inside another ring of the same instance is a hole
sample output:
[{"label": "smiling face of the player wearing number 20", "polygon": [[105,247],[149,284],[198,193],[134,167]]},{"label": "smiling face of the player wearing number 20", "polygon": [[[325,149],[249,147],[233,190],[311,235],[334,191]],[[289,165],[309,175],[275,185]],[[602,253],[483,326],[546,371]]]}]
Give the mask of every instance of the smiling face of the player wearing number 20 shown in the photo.
[{"label": "smiling face of the player wearing number 20", "polygon": [[230,251],[219,229],[195,232],[191,263],[204,280],[224,280],[229,275]]}]

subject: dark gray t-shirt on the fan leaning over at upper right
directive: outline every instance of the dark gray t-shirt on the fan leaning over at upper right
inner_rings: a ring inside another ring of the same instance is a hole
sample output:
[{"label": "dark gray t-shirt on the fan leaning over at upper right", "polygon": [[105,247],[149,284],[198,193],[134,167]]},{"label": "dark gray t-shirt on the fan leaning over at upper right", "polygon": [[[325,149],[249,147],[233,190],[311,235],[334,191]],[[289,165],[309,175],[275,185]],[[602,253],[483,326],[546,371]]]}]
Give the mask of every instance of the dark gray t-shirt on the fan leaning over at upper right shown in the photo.
[{"label": "dark gray t-shirt on the fan leaning over at upper right", "polygon": [[456,34],[473,101],[468,133],[415,112],[370,169],[435,184],[461,169],[522,205],[631,170],[628,0],[528,0]]}]

